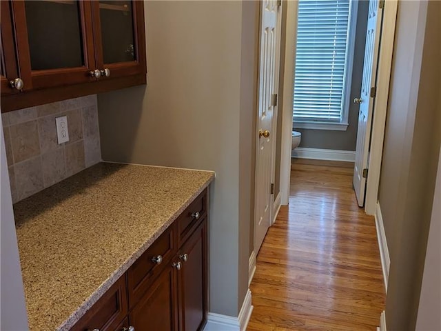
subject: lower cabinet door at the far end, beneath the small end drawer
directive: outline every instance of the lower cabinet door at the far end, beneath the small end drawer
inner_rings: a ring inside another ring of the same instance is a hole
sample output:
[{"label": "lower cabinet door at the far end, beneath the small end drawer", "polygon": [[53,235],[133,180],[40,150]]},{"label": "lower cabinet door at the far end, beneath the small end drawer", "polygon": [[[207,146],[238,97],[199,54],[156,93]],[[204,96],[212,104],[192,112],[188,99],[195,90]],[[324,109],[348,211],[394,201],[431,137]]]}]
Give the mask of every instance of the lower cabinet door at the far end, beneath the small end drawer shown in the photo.
[{"label": "lower cabinet door at the far end, beneath the small end drawer", "polygon": [[178,254],[179,325],[181,331],[203,330],[207,320],[207,218]]}]

